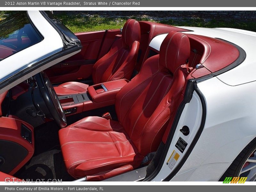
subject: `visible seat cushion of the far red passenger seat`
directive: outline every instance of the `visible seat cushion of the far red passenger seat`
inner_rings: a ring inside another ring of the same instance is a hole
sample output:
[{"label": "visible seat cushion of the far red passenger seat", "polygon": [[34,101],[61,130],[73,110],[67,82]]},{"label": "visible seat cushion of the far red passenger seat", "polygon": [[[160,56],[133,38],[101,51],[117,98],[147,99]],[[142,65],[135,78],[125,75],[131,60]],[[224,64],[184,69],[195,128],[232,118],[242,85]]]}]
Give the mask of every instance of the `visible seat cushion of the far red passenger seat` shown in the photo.
[{"label": "visible seat cushion of the far red passenger seat", "polygon": [[79,94],[87,91],[89,85],[79,82],[67,82],[54,87],[57,95]]}]

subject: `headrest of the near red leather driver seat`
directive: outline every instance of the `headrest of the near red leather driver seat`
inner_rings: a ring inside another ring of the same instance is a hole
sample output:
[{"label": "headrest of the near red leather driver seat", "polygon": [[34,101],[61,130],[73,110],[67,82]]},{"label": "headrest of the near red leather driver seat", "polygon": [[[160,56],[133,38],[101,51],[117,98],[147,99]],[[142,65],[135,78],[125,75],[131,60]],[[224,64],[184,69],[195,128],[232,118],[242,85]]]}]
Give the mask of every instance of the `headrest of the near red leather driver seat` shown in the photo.
[{"label": "headrest of the near red leather driver seat", "polygon": [[159,52],[159,64],[174,74],[175,70],[187,63],[190,44],[186,34],[172,31],[164,39]]}]

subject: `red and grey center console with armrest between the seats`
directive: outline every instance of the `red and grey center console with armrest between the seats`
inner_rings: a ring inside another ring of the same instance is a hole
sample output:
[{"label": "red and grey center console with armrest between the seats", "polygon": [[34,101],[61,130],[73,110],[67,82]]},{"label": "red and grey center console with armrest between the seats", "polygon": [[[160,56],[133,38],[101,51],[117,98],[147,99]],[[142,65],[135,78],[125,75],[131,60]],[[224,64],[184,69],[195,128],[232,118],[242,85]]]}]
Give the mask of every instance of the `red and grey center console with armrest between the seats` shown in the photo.
[{"label": "red and grey center console with armrest between the seats", "polygon": [[116,94],[128,83],[126,79],[95,84],[87,92],[59,96],[66,116],[115,104]]}]

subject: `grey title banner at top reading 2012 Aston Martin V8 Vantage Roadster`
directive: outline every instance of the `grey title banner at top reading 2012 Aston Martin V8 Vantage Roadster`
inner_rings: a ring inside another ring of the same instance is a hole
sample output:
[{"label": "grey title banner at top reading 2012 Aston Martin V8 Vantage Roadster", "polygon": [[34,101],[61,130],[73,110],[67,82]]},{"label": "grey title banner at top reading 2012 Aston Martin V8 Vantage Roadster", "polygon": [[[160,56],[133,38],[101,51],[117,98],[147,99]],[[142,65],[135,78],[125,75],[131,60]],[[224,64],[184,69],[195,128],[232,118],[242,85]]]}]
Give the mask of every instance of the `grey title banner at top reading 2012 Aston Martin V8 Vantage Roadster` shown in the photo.
[{"label": "grey title banner at top reading 2012 Aston Martin V8 Vantage Roadster", "polygon": [[252,0],[1,0],[1,7],[256,7]]}]

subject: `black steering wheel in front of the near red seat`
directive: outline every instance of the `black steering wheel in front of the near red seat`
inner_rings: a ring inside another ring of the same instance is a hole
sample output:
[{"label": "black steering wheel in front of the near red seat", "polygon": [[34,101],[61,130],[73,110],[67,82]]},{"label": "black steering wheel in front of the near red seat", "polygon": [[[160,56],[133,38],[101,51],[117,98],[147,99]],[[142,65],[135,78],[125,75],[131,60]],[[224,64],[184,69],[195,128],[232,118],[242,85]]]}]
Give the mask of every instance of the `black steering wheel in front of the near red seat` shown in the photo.
[{"label": "black steering wheel in front of the near red seat", "polygon": [[36,83],[52,118],[62,128],[67,125],[65,113],[48,76],[42,71],[36,74]]}]

